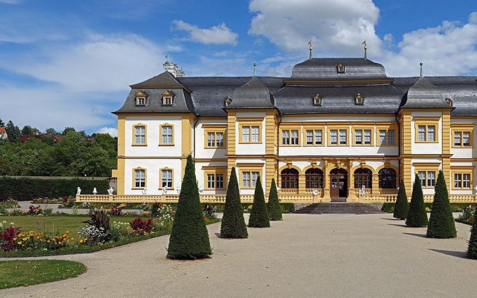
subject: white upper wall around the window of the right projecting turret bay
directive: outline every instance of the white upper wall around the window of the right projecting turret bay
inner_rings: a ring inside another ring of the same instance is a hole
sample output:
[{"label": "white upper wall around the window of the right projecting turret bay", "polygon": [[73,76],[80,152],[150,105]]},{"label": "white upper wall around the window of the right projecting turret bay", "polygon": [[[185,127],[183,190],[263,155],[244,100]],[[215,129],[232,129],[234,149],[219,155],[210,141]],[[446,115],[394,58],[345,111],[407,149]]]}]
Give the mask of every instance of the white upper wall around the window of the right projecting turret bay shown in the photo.
[{"label": "white upper wall around the window of the right projecting turret bay", "polygon": [[[412,112],[411,114],[411,153],[412,154],[442,154],[442,113],[441,112]],[[441,117],[437,131],[437,143],[416,143],[416,127],[414,117]]]}]

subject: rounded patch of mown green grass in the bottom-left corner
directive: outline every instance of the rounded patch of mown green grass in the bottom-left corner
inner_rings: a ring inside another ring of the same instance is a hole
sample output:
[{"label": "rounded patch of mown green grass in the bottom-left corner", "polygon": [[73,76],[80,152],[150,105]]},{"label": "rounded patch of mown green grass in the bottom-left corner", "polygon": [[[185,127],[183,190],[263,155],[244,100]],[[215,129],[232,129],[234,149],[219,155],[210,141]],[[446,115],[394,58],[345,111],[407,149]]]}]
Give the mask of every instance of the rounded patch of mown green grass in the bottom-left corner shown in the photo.
[{"label": "rounded patch of mown green grass in the bottom-left corner", "polygon": [[86,270],[86,266],[73,261],[3,261],[0,262],[0,289],[67,279]]}]

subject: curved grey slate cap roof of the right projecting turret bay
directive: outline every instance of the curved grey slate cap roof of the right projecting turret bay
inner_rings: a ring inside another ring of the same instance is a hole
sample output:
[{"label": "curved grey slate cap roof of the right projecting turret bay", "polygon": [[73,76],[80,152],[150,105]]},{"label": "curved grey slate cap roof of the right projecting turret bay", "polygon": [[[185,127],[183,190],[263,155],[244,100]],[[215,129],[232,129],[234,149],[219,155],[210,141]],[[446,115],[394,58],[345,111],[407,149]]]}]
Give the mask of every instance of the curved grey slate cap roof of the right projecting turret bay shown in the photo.
[{"label": "curved grey slate cap roof of the right projecting turret bay", "polygon": [[403,98],[401,108],[403,109],[446,109],[449,105],[444,101],[442,90],[436,85],[420,77],[412,85]]}]

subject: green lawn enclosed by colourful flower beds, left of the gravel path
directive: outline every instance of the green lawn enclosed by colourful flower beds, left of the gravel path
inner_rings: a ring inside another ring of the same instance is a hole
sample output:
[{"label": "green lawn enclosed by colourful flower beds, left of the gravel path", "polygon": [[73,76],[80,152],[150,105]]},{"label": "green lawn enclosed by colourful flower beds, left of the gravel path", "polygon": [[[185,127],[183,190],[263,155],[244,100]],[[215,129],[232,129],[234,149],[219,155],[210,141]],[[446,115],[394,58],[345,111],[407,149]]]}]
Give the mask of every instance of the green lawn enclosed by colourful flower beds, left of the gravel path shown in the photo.
[{"label": "green lawn enclosed by colourful flower beds, left of the gravel path", "polygon": [[[134,219],[134,216],[111,216],[110,222],[121,221],[130,222]],[[89,216],[0,216],[0,222],[4,220],[7,225],[11,222],[16,227],[20,227],[21,231],[28,232],[46,232],[47,234],[54,234],[57,231],[60,234],[64,234],[66,231],[70,231],[70,236],[78,238],[78,227],[88,224],[81,223],[89,219]]]}]

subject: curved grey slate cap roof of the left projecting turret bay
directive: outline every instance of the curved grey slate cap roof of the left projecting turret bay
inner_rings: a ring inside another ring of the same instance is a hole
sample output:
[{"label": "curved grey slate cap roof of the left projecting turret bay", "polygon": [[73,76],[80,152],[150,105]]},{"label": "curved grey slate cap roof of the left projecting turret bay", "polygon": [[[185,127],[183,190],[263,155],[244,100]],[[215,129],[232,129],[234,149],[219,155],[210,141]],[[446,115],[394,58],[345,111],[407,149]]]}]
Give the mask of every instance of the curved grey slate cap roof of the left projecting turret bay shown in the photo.
[{"label": "curved grey slate cap roof of the left projecting turret bay", "polygon": [[250,108],[274,108],[270,90],[257,77],[233,90],[232,103],[227,107],[227,109]]}]

